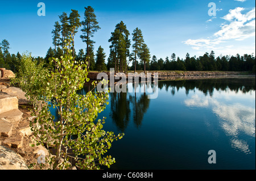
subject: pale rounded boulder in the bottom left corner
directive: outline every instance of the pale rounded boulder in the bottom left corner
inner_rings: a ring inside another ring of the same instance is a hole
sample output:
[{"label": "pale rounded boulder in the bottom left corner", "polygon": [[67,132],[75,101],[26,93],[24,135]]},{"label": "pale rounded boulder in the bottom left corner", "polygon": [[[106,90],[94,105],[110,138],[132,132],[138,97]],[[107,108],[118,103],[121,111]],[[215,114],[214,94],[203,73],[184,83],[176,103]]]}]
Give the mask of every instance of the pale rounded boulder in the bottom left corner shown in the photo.
[{"label": "pale rounded boulder in the bottom left corner", "polygon": [[20,155],[13,150],[0,146],[0,170],[29,170]]}]

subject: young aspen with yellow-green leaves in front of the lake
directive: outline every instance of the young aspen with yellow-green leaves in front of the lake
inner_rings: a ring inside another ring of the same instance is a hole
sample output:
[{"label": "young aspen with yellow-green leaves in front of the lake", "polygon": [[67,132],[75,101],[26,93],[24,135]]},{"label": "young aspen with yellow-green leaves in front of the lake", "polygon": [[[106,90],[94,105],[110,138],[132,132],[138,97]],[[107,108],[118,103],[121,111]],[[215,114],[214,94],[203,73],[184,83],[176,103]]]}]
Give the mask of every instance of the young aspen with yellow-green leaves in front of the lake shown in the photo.
[{"label": "young aspen with yellow-green leaves in front of the lake", "polygon": [[[40,89],[41,95],[37,97],[43,102],[40,108],[35,106],[36,118],[30,124],[37,138],[36,145],[44,144],[56,150],[55,155],[46,156],[46,163],[51,169],[69,169],[71,158],[75,159],[79,169],[100,169],[101,165],[110,167],[115,159],[106,152],[112,142],[121,139],[124,134],[115,136],[113,132],[105,132],[102,129],[105,117],[96,120],[98,113],[104,111],[108,104],[109,91],[77,94],[85,82],[89,82],[88,61],[73,60],[70,42],[71,37],[65,42],[64,56],[60,59],[49,58],[50,64],[56,65],[55,70],[33,77],[33,81],[40,80],[37,89]],[[92,85],[97,86],[96,82]],[[24,91],[30,95],[30,89]],[[57,110],[57,121],[49,111],[51,106]]]}]

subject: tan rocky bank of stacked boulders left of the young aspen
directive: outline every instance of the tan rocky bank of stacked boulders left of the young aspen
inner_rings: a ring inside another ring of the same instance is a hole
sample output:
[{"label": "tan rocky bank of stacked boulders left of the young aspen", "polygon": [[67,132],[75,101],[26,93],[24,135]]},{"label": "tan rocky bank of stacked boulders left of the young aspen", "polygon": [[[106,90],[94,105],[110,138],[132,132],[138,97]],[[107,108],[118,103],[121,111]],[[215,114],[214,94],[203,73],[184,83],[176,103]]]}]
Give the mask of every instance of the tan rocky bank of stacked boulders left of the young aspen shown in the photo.
[{"label": "tan rocky bank of stacked boulders left of the young aspen", "polygon": [[37,163],[42,145],[31,147],[33,135],[30,129],[30,105],[25,93],[9,86],[10,79],[0,78],[0,170],[39,169]]}]

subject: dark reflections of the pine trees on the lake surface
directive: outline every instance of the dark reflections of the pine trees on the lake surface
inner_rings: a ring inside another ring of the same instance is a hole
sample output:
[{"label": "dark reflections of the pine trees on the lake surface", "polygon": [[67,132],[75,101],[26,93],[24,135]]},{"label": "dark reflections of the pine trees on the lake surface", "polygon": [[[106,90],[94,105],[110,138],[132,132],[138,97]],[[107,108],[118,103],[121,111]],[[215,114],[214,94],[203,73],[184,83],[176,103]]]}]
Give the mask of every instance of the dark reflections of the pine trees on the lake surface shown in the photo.
[{"label": "dark reflections of the pine trees on the lake surface", "polygon": [[[242,81],[241,81],[242,79]],[[181,81],[159,81],[158,89],[165,89],[175,95],[176,91],[185,88],[185,94],[190,91],[198,89],[203,92],[205,96],[213,95],[214,90],[235,92],[242,91],[243,93],[255,90],[255,78],[215,78],[215,79],[193,79]],[[241,84],[242,82],[242,84]],[[151,85],[145,82],[133,83],[133,92],[129,92],[128,85],[126,84],[126,92],[113,92],[109,93],[110,97],[110,116],[112,117],[115,125],[121,132],[125,132],[130,121],[133,121],[137,128],[142,126],[144,114],[150,107],[150,99],[147,97],[147,88],[153,88],[154,83]],[[92,86],[85,86],[80,94],[93,90]],[[93,90],[95,91],[95,90]]]}]

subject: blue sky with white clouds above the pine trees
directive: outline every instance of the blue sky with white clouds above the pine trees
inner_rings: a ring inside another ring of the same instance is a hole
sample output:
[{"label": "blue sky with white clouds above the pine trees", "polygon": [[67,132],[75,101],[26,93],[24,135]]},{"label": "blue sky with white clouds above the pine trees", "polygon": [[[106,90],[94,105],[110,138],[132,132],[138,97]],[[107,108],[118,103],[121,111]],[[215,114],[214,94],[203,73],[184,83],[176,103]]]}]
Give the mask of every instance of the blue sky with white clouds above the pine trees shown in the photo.
[{"label": "blue sky with white clouds above the pine trees", "polygon": [[[46,16],[38,16],[39,2],[46,5]],[[209,16],[210,2],[216,4],[216,16]],[[46,55],[52,45],[53,24],[62,12],[78,10],[81,20],[84,7],[94,8],[101,30],[94,34],[94,52],[101,45],[107,57],[108,42],[115,25],[121,20],[130,33],[142,30],[151,57],[165,59],[175,53],[184,58],[186,53],[201,56],[214,50],[216,56],[255,55],[255,1],[253,0],[158,0],[158,1],[3,1],[0,0],[0,41],[7,39],[10,53],[31,52]],[[76,52],[85,49],[75,37]],[[132,39],[132,36],[130,36]],[[133,42],[132,42],[133,43]]]}]

